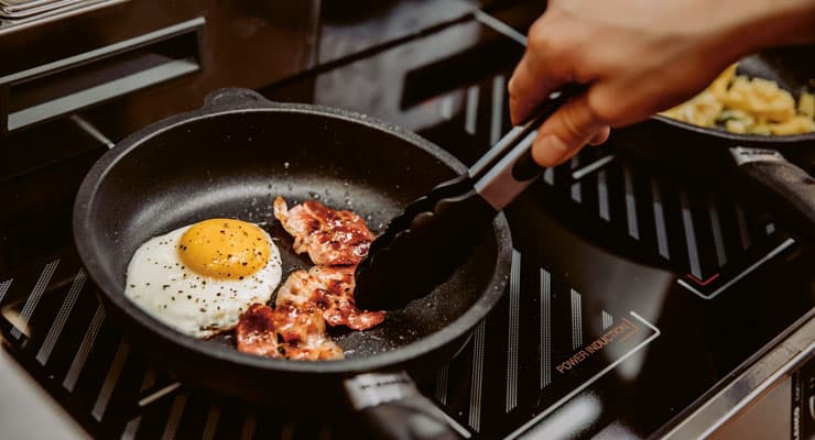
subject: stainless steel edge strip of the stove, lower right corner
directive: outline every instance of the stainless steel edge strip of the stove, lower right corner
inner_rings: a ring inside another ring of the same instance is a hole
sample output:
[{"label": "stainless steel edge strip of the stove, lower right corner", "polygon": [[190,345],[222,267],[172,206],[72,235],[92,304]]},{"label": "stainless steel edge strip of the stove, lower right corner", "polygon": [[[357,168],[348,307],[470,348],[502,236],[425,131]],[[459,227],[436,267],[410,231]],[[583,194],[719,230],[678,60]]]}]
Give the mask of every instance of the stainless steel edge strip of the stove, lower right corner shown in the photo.
[{"label": "stainless steel edge strip of the stove, lower right corner", "polygon": [[663,439],[704,439],[815,356],[815,316],[708,399]]}]

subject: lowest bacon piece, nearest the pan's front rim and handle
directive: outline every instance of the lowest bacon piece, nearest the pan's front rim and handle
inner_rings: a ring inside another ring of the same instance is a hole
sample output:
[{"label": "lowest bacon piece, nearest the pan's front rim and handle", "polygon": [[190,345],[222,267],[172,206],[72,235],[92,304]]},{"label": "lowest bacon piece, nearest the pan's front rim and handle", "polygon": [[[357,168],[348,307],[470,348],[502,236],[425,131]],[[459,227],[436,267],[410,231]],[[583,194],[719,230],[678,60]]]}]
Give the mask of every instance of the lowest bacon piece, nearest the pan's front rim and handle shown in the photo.
[{"label": "lowest bacon piece, nearest the pan's front rim and handle", "polygon": [[300,361],[343,359],[343,349],[325,332],[316,308],[253,304],[236,329],[238,351]]}]

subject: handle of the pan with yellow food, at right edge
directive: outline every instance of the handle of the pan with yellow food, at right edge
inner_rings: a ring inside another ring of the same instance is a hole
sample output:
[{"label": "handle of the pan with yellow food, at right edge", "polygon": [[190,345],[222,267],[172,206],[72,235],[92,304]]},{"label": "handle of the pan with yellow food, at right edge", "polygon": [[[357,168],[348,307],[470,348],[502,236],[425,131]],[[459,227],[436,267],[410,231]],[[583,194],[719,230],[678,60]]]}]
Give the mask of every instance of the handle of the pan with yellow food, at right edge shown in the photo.
[{"label": "handle of the pan with yellow food, at right edge", "polygon": [[815,179],[775,150],[737,146],[730,154],[740,177],[763,193],[790,232],[815,246]]}]

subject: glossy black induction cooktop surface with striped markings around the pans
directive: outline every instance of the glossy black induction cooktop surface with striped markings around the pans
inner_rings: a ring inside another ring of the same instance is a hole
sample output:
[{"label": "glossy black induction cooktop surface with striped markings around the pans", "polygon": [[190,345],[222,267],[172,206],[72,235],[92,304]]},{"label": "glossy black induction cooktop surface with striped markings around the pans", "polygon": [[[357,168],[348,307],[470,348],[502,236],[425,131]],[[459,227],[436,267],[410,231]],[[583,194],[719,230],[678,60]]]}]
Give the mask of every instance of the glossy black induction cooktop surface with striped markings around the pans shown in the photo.
[{"label": "glossy black induction cooktop surface with striped markings around the pans", "polygon": [[[534,16],[499,14],[521,30]],[[261,91],[396,122],[469,165],[509,129],[522,53],[483,22]],[[0,328],[51,395],[105,438],[358,438],[344,411],[315,421],[187,389],[121,339],[70,242],[73,196],[104,148],[75,150],[0,186]],[[658,175],[613,139],[547,170],[507,209],[507,295],[422,391],[476,438],[664,433],[813,315],[815,254],[729,188]]]}]

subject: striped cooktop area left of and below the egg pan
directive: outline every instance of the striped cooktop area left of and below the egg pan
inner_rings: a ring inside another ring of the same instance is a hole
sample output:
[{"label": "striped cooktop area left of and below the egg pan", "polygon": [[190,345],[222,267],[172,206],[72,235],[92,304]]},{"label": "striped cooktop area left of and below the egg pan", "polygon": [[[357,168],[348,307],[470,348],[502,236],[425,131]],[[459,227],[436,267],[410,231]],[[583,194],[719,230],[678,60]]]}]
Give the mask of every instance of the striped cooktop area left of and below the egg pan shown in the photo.
[{"label": "striped cooktop area left of and below the egg pan", "polygon": [[[40,279],[55,266],[48,263]],[[75,272],[70,283],[54,279],[46,286],[0,284],[13,287],[2,302],[0,323],[12,354],[91,435],[251,439],[278,432],[282,438],[307,433],[304,438],[323,439],[341,427],[333,421],[314,430],[313,420],[301,422],[279,408],[250,408],[178,387],[122,340],[84,271]],[[34,295],[41,299],[31,306]],[[30,321],[20,318],[25,310]]]}]

